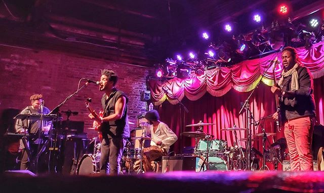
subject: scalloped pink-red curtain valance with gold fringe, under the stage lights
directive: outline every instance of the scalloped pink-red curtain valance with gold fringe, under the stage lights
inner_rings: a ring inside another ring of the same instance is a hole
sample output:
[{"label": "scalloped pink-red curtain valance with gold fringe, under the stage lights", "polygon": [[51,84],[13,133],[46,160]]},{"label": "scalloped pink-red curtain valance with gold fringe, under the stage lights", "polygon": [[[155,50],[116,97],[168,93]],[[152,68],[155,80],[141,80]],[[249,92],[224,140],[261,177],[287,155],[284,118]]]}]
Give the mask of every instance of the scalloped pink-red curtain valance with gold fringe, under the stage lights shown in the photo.
[{"label": "scalloped pink-red curtain valance with gold fringe, under the stage lights", "polygon": [[[319,78],[324,74],[324,42],[318,42],[311,49],[297,49],[302,63],[310,70],[313,78]],[[189,100],[195,101],[201,98],[206,92],[213,96],[222,96],[231,88],[239,92],[252,90],[265,73],[262,82],[271,86],[273,84],[272,67],[270,62],[275,57],[281,58],[281,52],[268,55],[254,60],[242,61],[230,67],[219,67],[206,71],[198,77],[193,75],[190,79],[182,80],[173,78],[165,82],[150,80],[148,82],[154,105],[160,105],[165,100],[175,105],[186,96]],[[269,68],[268,68],[269,67]],[[267,70],[268,68],[268,70]],[[280,78],[282,64],[275,69],[275,76]],[[167,88],[163,91],[162,88]],[[168,90],[170,89],[170,90]]]}]

